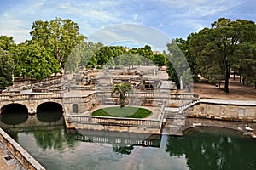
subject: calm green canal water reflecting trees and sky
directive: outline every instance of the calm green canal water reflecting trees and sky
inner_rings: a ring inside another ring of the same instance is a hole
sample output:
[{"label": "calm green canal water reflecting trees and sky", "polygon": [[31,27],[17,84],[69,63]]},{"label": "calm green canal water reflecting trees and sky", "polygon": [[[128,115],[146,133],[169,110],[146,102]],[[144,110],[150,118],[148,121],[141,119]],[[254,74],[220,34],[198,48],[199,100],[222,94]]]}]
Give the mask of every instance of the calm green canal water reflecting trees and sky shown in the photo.
[{"label": "calm green canal water reflecting trees and sky", "polygon": [[224,128],[197,127],[183,137],[67,131],[61,113],[38,114],[40,126],[26,113],[11,115],[0,115],[1,126],[46,169],[256,169],[256,140]]}]

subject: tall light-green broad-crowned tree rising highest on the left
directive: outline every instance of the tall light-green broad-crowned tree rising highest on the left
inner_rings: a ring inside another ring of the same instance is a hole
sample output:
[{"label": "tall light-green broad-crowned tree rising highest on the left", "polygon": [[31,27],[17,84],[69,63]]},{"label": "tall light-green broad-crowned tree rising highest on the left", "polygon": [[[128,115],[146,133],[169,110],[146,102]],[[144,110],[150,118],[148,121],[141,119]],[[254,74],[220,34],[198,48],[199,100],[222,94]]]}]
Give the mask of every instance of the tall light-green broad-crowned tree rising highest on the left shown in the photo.
[{"label": "tall light-green broad-crowned tree rising highest on the left", "polygon": [[32,35],[32,40],[44,46],[54,55],[60,68],[64,68],[65,62],[73,48],[79,42],[83,42],[85,38],[79,33],[77,23],[61,18],[51,21],[35,21],[30,34]]}]

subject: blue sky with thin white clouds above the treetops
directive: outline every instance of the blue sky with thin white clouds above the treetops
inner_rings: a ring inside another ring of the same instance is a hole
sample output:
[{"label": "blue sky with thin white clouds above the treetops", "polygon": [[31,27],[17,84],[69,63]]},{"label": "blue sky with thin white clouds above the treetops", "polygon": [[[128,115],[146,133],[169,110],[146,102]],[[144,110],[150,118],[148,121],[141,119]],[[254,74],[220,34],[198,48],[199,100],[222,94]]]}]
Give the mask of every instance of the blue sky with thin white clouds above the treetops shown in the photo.
[{"label": "blue sky with thin white clouds above the treetops", "polygon": [[[159,31],[160,34],[147,35],[151,40],[158,35],[186,38],[220,17],[256,21],[254,3],[254,0],[0,0],[0,35],[15,37],[17,43],[25,42],[31,38],[32,22],[61,17],[77,22],[80,32],[87,37],[113,26],[134,24]],[[141,40],[138,38],[138,42]]]}]

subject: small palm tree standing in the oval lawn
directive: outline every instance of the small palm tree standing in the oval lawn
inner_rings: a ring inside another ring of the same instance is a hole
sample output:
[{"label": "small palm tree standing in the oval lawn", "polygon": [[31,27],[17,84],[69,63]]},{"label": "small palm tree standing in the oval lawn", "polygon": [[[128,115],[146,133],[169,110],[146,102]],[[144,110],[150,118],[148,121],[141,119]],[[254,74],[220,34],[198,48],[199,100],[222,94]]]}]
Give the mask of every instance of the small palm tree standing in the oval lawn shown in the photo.
[{"label": "small palm tree standing in the oval lawn", "polygon": [[131,84],[128,82],[114,84],[112,94],[120,94],[120,107],[125,107],[125,93],[131,90]]}]

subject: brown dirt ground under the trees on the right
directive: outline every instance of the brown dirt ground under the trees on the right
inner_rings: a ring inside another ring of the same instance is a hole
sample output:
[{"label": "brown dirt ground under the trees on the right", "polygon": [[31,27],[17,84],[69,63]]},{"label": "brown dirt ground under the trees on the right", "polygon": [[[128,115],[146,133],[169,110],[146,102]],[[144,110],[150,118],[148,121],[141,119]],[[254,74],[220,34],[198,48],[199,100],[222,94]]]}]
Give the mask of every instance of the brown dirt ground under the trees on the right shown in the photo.
[{"label": "brown dirt ground under the trees on the right", "polygon": [[224,82],[221,83],[220,88],[208,83],[207,80],[202,79],[200,82],[194,83],[193,93],[200,94],[201,99],[239,99],[239,100],[256,100],[256,89],[251,86],[242,85],[239,82],[239,77],[233,80],[230,78],[230,93],[225,94]]}]

